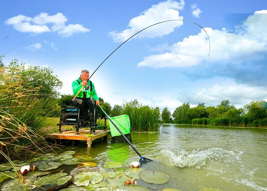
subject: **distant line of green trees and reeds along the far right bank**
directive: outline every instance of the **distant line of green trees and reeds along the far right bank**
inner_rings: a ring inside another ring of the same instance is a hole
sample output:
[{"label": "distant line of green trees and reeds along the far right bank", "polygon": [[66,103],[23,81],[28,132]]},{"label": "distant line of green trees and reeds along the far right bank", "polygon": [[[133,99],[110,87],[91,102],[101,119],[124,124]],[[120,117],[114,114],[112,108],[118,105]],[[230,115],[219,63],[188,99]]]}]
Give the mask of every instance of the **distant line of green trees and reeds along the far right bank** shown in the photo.
[{"label": "distant line of green trees and reeds along the far right bank", "polygon": [[170,117],[169,115],[168,118],[164,118],[164,122],[192,125],[267,127],[267,102],[264,100],[251,101],[239,109],[230,105],[229,99],[223,100],[216,107],[206,107],[204,103],[199,103],[197,107],[190,108],[190,104],[187,102],[176,108],[172,114],[174,118],[172,121]]}]

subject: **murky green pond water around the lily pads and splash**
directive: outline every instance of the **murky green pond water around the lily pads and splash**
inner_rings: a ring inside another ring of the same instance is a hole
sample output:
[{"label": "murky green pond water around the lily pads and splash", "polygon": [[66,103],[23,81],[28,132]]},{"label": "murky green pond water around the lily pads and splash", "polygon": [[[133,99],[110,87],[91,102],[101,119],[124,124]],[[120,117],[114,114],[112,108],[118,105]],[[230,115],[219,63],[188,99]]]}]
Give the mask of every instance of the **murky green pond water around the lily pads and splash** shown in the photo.
[{"label": "murky green pond water around the lily pads and splash", "polygon": [[[150,190],[267,190],[267,129],[170,124],[162,125],[159,132],[131,133],[131,137],[142,156],[156,161],[143,164],[142,168],[162,171],[170,177],[164,184],[137,179],[137,185]],[[95,160],[90,162],[99,168],[115,161],[123,163],[117,170],[126,170],[131,168],[131,161],[139,160],[127,143],[113,143],[111,139],[93,143],[91,149],[86,143],[63,148],[70,150],[76,151],[73,156],[93,157]],[[76,166],[61,168],[68,173]]]}]

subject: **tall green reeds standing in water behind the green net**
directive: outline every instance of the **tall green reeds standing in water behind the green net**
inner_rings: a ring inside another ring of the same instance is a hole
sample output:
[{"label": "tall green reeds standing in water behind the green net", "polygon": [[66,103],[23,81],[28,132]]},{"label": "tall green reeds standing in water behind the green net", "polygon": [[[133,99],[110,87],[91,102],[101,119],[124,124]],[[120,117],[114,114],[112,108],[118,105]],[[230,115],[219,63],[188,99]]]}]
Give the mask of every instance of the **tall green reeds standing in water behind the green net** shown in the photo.
[{"label": "tall green reeds standing in water behind the green net", "polygon": [[143,106],[136,100],[123,104],[123,114],[129,115],[131,131],[158,131],[161,122],[159,109]]}]

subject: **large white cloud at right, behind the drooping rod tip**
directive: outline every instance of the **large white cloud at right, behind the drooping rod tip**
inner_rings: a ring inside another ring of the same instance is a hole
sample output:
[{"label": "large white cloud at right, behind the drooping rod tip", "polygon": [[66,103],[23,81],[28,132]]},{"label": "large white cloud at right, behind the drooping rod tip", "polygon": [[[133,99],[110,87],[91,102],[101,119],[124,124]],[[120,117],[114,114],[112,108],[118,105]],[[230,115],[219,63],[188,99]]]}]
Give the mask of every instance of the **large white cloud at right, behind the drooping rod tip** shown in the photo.
[{"label": "large white cloud at right, behind the drooping rod tip", "polygon": [[[262,13],[262,14],[260,14]],[[204,28],[211,42],[210,62],[229,61],[240,63],[243,60],[258,59],[255,53],[267,51],[267,10],[255,12],[239,28],[242,33],[230,33],[228,30]],[[170,51],[144,57],[138,66],[154,68],[190,67],[206,61],[209,53],[209,41],[201,30],[198,35],[184,38],[170,46]]]}]

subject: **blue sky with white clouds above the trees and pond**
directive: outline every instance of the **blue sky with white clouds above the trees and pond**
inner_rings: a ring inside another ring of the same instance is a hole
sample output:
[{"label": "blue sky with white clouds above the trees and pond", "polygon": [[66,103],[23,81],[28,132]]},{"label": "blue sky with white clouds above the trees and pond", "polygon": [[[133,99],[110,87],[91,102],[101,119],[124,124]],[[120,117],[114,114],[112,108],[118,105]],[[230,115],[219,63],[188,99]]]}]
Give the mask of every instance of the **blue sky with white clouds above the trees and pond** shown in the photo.
[{"label": "blue sky with white clouds above the trees and pond", "polygon": [[[0,1],[5,64],[16,58],[49,66],[71,94],[71,82],[90,74],[98,97],[122,104],[138,99],[173,111],[183,102],[241,107],[267,101],[267,1]],[[9,36],[8,36],[9,35]],[[5,38],[8,36],[8,38]]]}]

